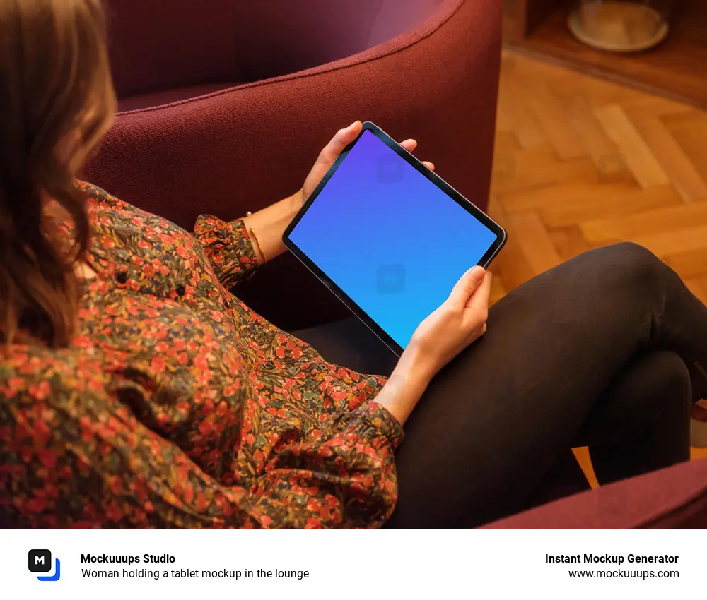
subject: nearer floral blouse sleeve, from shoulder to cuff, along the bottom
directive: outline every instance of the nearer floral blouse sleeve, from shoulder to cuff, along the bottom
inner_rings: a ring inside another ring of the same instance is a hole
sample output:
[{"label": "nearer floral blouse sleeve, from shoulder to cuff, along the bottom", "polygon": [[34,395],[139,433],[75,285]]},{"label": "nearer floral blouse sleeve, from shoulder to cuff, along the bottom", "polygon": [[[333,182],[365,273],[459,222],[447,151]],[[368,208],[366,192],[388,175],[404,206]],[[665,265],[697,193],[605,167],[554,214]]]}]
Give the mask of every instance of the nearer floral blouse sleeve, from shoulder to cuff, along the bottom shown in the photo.
[{"label": "nearer floral blouse sleeve, from shoulder to cuff, along the bottom", "polygon": [[204,473],[91,378],[80,393],[50,381],[0,388],[0,527],[375,527],[395,505],[402,431],[375,402],[245,488]]}]

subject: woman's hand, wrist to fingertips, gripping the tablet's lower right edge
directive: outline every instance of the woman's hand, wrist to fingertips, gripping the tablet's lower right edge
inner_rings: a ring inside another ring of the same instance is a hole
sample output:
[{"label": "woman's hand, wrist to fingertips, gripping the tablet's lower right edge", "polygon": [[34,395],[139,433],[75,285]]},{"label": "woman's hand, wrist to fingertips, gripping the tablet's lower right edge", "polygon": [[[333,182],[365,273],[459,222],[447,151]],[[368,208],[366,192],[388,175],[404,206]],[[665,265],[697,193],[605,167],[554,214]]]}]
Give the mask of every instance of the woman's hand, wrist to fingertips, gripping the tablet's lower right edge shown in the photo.
[{"label": "woman's hand, wrist to fingertips, gripping the tablet's lower right edge", "polygon": [[405,352],[414,353],[416,367],[432,378],[484,335],[490,294],[490,272],[478,266],[465,272],[444,304],[415,330]]}]

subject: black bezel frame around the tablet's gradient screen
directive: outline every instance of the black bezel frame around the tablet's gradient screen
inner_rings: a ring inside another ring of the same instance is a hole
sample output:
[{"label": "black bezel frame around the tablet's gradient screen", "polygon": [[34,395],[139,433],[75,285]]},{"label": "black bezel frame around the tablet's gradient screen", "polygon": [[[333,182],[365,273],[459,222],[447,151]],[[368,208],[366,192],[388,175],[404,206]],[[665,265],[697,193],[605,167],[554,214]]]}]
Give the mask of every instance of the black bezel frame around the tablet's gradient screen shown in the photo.
[{"label": "black bezel frame around the tablet's gradient screen", "polygon": [[[380,325],[378,325],[378,323],[375,323],[375,321],[370,318],[370,316],[368,316],[366,311],[363,311],[363,308],[361,308],[361,306],[358,306],[356,302],[354,302],[349,296],[347,296],[344,290],[342,290],[339,286],[337,286],[337,284],[330,280],[329,277],[327,277],[327,275],[325,274],[325,272],[323,272],[319,267],[317,267],[317,265],[315,265],[315,263],[313,263],[312,260],[310,260],[310,258],[305,255],[305,253],[303,253],[300,248],[298,248],[296,244],[294,244],[294,242],[290,239],[290,234],[292,233],[293,229],[297,226],[298,222],[300,222],[300,220],[310,208],[312,203],[317,199],[317,196],[319,196],[322,189],[325,188],[325,186],[329,182],[329,179],[332,178],[332,175],[339,168],[339,165],[344,162],[344,160],[346,160],[346,157],[349,155],[349,152],[351,152],[351,148],[354,148],[354,145],[356,145],[359,138],[361,138],[363,133],[366,131],[370,131],[371,133],[373,133],[375,137],[385,143],[385,145],[387,145],[389,148],[394,150],[398,156],[402,157],[406,162],[411,164],[411,166],[414,167],[416,171],[420,172],[427,179],[432,181],[432,183],[435,184],[438,188],[440,188],[445,194],[447,194],[447,196],[452,198],[452,200],[454,200],[458,205],[464,208],[464,210],[467,210],[467,212],[469,212],[481,223],[483,223],[489,230],[491,230],[491,232],[494,232],[496,234],[496,241],[491,244],[489,251],[487,251],[484,256],[481,257],[481,260],[479,260],[478,263],[479,265],[484,268],[489,266],[491,260],[493,260],[493,258],[496,258],[498,252],[501,251],[503,245],[506,244],[506,238],[508,234],[506,234],[506,230],[503,229],[501,225],[491,219],[489,215],[486,215],[484,212],[482,212],[472,202],[467,200],[467,198],[464,198],[462,194],[456,191],[455,188],[452,188],[450,184],[444,181],[444,179],[438,176],[435,172],[428,169],[424,164],[422,164],[421,161],[417,160],[416,157],[411,155],[410,152],[405,150],[401,145],[399,145],[399,143],[397,143],[390,136],[388,136],[385,131],[382,131],[380,127],[376,126],[370,121],[366,121],[363,124],[363,129],[361,133],[356,137],[356,140],[354,140],[352,143],[346,146],[346,148],[344,148],[344,151],[341,152],[337,160],[334,162],[334,164],[332,164],[332,167],[322,178],[320,184],[317,185],[308,200],[304,203],[303,207],[300,208],[297,215],[293,218],[291,223],[288,225],[287,229],[285,229],[285,232],[282,235],[282,241],[285,247],[288,248],[288,250],[291,251],[305,265],[305,267],[312,271],[312,273],[314,273],[314,275],[316,275],[317,278],[323,284],[325,284],[325,286],[332,290],[334,295],[337,296],[337,298],[341,300],[341,302],[343,302],[351,312],[353,312],[358,318],[360,318],[363,323],[366,323],[368,328],[373,331],[375,335],[380,337],[380,340],[382,340],[382,342],[384,342],[387,347],[389,347],[393,352],[395,352],[397,356],[400,356],[400,354],[402,354],[403,352],[403,348],[397,342],[395,342],[395,340],[393,340],[392,337],[390,337],[390,335],[388,335],[387,332],[385,332],[385,330],[383,330]],[[432,218],[433,216],[431,215],[431,219]]]}]

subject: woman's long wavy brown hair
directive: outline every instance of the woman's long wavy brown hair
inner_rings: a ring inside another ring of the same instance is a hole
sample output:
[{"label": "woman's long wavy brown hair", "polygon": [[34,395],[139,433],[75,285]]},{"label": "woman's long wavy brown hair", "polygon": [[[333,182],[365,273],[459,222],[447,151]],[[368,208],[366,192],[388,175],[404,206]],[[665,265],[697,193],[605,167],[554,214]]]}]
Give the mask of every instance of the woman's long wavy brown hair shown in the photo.
[{"label": "woman's long wavy brown hair", "polygon": [[[0,1],[0,343],[74,334],[89,236],[76,174],[116,104],[105,35],[101,0]],[[68,244],[49,205],[73,222]]]}]

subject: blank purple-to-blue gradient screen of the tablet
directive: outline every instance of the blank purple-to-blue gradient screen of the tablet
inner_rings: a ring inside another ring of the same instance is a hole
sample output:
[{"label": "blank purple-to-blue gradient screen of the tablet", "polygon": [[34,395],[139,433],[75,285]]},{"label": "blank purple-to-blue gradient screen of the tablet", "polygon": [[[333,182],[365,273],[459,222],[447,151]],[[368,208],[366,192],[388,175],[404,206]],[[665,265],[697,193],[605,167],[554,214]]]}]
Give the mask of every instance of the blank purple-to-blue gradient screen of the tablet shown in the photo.
[{"label": "blank purple-to-blue gradient screen of the tablet", "polygon": [[289,239],[404,348],[496,234],[364,131]]}]

